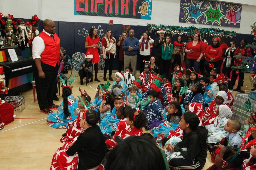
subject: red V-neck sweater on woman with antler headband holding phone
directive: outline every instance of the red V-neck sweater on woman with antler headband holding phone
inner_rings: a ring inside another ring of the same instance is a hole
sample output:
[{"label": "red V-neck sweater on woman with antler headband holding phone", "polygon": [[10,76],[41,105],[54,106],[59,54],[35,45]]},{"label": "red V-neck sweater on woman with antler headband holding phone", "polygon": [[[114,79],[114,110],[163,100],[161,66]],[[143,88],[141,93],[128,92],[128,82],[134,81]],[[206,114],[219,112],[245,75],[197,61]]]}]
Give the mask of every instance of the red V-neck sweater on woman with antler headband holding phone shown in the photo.
[{"label": "red V-neck sweater on woman with antler headband holding phone", "polygon": [[185,50],[192,49],[192,53],[187,53],[187,58],[192,60],[197,60],[201,53],[205,53],[204,45],[201,41],[198,41],[198,43],[193,46],[193,41],[190,41],[187,43]]}]

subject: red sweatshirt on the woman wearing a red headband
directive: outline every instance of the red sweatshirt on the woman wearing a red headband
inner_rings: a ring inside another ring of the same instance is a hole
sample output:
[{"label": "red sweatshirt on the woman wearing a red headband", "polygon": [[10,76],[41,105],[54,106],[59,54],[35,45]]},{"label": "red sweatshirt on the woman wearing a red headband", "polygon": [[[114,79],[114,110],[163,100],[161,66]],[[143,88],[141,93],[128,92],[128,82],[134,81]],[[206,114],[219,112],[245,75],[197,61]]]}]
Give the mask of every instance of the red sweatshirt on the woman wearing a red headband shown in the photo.
[{"label": "red sweatshirt on the woman wearing a red headband", "polygon": [[210,58],[214,58],[213,61],[211,62],[216,62],[216,61],[219,61],[219,60],[223,60],[222,58],[222,50],[221,50],[221,47],[218,47],[218,48],[213,48],[212,45],[209,45],[206,50],[205,50],[205,60],[207,62],[210,62]]}]

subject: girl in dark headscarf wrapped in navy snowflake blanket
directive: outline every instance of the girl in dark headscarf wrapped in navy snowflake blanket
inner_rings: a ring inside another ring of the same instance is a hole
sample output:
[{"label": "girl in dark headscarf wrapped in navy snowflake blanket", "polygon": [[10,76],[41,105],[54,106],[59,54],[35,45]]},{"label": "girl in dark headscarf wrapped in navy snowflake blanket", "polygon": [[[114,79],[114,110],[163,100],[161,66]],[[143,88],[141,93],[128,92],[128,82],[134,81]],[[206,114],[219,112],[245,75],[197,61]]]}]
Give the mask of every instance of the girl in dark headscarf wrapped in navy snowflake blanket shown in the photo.
[{"label": "girl in dark headscarf wrapped in navy snowflake blanket", "polygon": [[195,83],[191,87],[191,92],[188,93],[188,95],[185,97],[183,101],[184,108],[188,110],[188,104],[189,103],[202,103],[203,110],[205,111],[204,106],[204,86],[201,83]]}]

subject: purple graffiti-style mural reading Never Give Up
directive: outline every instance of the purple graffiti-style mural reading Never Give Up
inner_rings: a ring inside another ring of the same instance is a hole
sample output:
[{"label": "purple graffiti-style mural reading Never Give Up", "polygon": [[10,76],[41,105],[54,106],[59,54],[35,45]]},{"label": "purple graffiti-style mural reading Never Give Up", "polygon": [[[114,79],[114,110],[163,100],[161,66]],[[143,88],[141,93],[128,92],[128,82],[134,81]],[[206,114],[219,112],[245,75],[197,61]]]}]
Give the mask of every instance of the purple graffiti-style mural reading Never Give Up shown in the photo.
[{"label": "purple graffiti-style mural reading Never Give Up", "polygon": [[242,5],[206,1],[180,0],[179,22],[240,27]]}]

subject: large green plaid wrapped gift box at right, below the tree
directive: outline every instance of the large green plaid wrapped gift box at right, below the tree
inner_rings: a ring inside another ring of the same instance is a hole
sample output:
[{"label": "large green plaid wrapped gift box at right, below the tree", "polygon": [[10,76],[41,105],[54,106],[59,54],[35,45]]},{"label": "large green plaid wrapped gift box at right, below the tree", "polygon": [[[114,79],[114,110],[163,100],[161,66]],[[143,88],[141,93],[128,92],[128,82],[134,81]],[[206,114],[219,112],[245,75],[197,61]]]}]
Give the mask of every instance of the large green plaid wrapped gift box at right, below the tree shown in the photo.
[{"label": "large green plaid wrapped gift box at right, below the tree", "polygon": [[[256,110],[256,101],[249,97],[250,93],[238,93],[235,95],[232,119],[239,120],[242,124],[241,130],[244,129],[244,121],[248,120],[250,113],[245,109],[245,101],[251,101],[252,109]],[[246,113],[247,112],[247,113]]]}]

